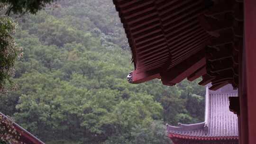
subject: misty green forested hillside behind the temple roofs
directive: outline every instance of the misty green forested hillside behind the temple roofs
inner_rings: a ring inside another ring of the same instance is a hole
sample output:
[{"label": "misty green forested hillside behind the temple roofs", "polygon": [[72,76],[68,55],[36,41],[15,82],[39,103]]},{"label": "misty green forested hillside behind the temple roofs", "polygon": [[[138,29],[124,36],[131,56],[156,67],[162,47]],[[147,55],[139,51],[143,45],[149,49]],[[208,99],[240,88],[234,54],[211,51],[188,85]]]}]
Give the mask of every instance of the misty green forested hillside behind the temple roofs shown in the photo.
[{"label": "misty green forested hillside behind the temple roofs", "polygon": [[203,121],[198,81],[129,84],[127,39],[112,0],[61,0],[16,18],[18,91],[0,111],[46,144],[170,144],[165,123]]}]

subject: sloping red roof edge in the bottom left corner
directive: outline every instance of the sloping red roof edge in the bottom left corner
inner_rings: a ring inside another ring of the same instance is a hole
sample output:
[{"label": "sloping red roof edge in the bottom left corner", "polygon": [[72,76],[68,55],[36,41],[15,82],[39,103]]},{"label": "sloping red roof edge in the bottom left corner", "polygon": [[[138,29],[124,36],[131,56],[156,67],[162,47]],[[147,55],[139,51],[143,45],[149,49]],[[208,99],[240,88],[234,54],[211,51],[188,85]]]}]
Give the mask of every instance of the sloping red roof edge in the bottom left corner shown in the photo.
[{"label": "sloping red roof edge in the bottom left corner", "polygon": [[[1,112],[0,112],[0,115],[3,116],[3,117],[6,117]],[[13,126],[16,129],[16,131],[21,135],[19,141],[21,141],[25,144],[45,144],[44,142],[39,140],[36,136],[29,133],[26,129],[19,126],[17,123],[13,123]]]}]

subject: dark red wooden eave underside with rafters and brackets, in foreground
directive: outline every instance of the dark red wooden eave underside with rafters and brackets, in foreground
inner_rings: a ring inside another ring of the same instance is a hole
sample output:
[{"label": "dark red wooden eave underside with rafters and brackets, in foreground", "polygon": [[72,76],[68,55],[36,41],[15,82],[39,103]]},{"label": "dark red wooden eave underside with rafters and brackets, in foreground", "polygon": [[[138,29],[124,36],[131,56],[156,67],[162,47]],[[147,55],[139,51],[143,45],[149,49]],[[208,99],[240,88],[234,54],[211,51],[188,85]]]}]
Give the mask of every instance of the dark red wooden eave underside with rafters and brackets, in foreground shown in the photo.
[{"label": "dark red wooden eave underside with rafters and brackets, in foreground", "polygon": [[243,42],[241,0],[113,0],[128,37],[131,83],[174,85],[202,76],[211,90],[238,87]]}]

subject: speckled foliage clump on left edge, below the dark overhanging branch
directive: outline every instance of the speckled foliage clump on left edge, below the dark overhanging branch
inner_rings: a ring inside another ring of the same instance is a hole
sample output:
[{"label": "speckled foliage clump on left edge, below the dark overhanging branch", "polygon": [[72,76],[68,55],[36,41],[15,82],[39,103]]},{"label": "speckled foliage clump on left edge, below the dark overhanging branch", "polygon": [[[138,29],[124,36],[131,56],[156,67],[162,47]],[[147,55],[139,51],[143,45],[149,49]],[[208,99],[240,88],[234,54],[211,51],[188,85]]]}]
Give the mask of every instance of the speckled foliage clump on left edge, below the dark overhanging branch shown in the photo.
[{"label": "speckled foliage clump on left edge, below the dark overhanging branch", "polygon": [[[0,4],[0,9],[4,9],[4,5]],[[0,93],[16,89],[11,78],[14,76],[15,62],[22,56],[22,48],[15,43],[12,37],[16,32],[16,27],[17,23],[2,15],[0,10]]]}]

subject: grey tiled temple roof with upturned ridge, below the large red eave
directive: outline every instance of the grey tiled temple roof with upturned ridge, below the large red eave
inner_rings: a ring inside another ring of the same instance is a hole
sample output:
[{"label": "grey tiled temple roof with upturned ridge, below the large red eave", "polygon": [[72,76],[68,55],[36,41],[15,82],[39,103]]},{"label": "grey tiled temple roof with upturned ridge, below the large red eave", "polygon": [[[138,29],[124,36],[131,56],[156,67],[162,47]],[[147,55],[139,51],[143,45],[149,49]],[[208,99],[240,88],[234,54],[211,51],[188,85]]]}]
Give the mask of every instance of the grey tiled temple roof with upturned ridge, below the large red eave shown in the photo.
[{"label": "grey tiled temple roof with upturned ridge, below the large red eave", "polygon": [[206,86],[205,121],[197,124],[167,125],[170,137],[187,139],[238,139],[238,117],[229,111],[229,97],[238,91],[228,84],[219,90]]}]

